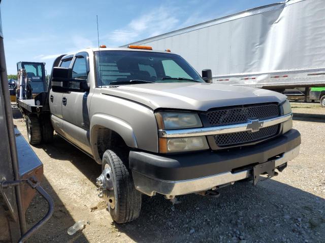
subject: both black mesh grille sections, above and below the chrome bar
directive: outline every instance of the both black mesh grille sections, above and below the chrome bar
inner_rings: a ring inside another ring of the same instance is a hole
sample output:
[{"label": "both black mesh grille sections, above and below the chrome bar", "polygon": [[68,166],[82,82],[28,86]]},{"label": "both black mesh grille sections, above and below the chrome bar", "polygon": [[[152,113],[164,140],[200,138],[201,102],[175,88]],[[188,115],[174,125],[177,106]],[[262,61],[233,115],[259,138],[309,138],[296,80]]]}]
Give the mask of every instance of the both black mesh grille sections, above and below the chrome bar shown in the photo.
[{"label": "both black mesh grille sections, above and below the chrome bar", "polygon": [[[280,115],[280,111],[276,104],[263,104],[214,110],[207,112],[205,115],[210,123],[210,126],[222,126],[246,123],[248,119],[263,120],[277,117]],[[271,127],[261,128],[258,132],[254,133],[245,131],[218,134],[214,135],[213,138],[215,145],[221,149],[222,147],[242,145],[245,143],[252,143],[272,138],[278,134],[279,126],[280,125],[277,124]]]}]

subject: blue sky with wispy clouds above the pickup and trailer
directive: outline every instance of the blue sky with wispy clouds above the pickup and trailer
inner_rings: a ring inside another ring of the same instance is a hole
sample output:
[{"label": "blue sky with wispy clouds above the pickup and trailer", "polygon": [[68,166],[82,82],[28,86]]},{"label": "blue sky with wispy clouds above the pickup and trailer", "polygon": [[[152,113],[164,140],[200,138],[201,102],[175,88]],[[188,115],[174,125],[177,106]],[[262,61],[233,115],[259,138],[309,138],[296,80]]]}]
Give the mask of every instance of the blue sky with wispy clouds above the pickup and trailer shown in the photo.
[{"label": "blue sky with wispy clouds above the pickup and trailer", "polygon": [[275,0],[3,0],[1,15],[8,74],[18,61],[46,62],[86,47],[116,47]]}]

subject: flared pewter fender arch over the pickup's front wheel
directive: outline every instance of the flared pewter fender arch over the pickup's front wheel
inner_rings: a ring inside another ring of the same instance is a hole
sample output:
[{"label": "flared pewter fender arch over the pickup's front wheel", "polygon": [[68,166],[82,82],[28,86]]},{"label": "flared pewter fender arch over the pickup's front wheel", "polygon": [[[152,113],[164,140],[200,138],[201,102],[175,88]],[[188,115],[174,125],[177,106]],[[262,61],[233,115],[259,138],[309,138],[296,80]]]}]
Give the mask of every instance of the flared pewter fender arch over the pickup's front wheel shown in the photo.
[{"label": "flared pewter fender arch over the pickup's front wheel", "polygon": [[116,132],[122,137],[128,147],[138,148],[136,136],[132,127],[128,123],[107,114],[94,114],[90,121],[90,144],[93,157],[97,163],[102,163],[96,143],[98,135],[97,131],[100,128],[107,128]]}]

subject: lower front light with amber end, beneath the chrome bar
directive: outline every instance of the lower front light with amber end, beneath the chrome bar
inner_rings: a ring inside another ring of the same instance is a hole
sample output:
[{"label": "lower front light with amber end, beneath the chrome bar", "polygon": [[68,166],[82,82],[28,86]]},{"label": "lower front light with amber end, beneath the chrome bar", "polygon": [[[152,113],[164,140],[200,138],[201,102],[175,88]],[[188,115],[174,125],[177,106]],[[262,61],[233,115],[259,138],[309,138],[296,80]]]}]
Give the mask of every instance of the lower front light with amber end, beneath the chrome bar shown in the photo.
[{"label": "lower front light with amber end, beneath the chrome bar", "polygon": [[207,139],[202,137],[159,138],[159,152],[186,152],[209,149]]}]

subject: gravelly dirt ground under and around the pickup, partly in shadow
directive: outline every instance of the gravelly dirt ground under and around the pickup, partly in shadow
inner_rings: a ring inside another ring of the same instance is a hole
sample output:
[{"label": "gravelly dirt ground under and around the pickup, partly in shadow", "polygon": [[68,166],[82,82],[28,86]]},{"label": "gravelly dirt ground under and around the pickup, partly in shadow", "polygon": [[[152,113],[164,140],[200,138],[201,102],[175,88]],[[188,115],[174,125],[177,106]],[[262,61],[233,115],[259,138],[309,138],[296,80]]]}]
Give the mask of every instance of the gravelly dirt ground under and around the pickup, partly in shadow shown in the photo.
[{"label": "gravelly dirt ground under and around the pickup, partly in shadow", "polygon": [[[28,242],[325,242],[325,108],[291,103],[294,128],[302,136],[301,154],[277,177],[252,186],[235,183],[220,197],[143,197],[139,219],[113,223],[97,196],[101,168],[57,135],[52,144],[32,147],[44,164],[42,185],[54,199],[49,222]],[[314,117],[313,115],[316,114]],[[317,116],[318,115],[318,116]],[[26,138],[23,119],[14,119]],[[27,211],[29,225],[47,211],[36,196]],[[67,230],[85,220],[74,235]]]}]

